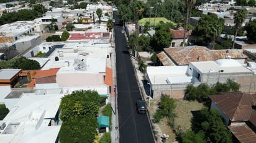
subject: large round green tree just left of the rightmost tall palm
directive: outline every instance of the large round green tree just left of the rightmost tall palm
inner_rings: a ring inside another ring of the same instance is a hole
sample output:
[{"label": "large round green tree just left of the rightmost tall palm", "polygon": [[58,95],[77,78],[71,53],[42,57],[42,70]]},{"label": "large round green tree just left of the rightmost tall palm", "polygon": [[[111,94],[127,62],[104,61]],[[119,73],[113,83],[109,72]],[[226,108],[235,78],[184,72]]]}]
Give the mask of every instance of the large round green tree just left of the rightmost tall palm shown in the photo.
[{"label": "large round green tree just left of the rightmost tall palm", "polygon": [[201,43],[208,45],[209,43],[215,43],[224,27],[224,19],[218,18],[217,15],[203,14],[192,34],[197,35]]}]

